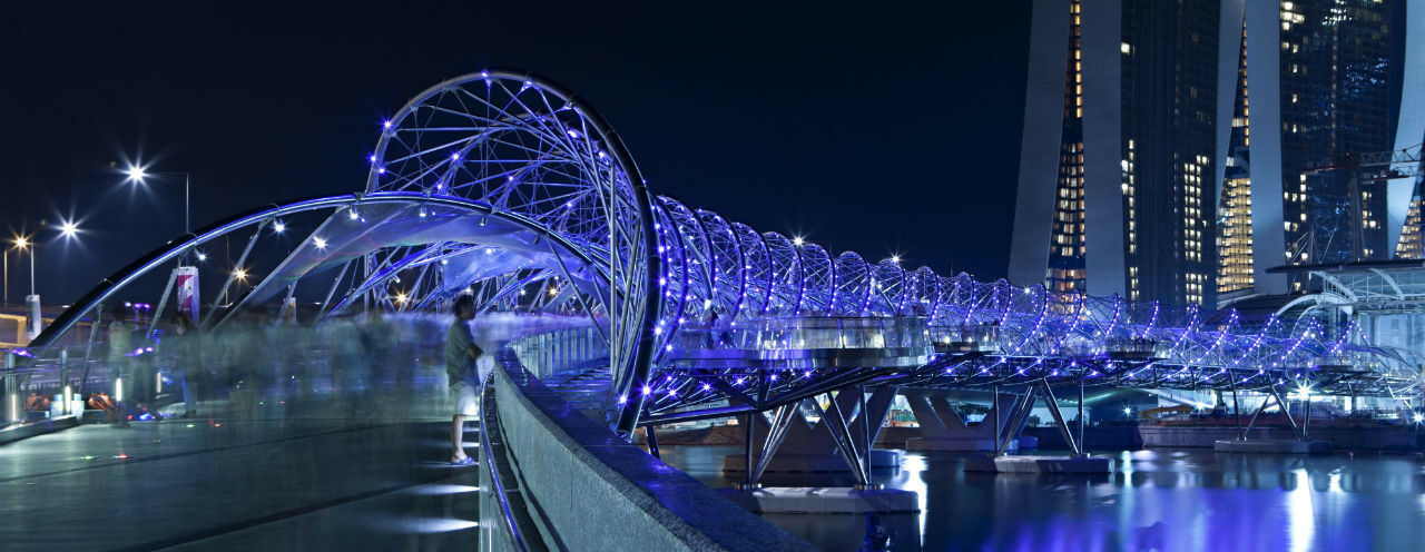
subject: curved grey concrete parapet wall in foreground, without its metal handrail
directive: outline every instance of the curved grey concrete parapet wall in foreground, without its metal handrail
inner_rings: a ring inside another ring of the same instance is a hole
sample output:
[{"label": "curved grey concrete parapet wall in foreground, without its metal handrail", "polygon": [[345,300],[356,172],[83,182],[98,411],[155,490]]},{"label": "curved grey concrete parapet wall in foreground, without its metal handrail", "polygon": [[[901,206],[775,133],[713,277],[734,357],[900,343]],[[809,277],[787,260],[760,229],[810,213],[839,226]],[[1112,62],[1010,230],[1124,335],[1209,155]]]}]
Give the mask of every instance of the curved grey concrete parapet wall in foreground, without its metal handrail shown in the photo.
[{"label": "curved grey concrete parapet wall in foreground, without its metal handrail", "polygon": [[537,380],[494,371],[520,495],[571,551],[814,549],[589,420]]}]

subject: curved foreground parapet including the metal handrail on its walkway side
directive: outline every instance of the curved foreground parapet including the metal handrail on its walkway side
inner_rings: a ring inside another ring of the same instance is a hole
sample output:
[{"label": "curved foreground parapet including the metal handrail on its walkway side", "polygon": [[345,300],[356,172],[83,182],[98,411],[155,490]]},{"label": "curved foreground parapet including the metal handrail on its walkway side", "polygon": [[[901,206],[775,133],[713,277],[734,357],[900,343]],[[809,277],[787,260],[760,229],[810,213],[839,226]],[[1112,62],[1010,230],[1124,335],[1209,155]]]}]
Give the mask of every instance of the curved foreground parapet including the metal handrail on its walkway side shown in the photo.
[{"label": "curved foreground parapet including the metal handrail on its walkway side", "polygon": [[[492,549],[814,549],[597,424],[499,353],[482,417]],[[487,445],[486,442],[493,442]],[[482,484],[483,487],[483,484]],[[517,488],[517,491],[514,491]],[[597,512],[597,524],[590,515]],[[497,534],[494,534],[497,532]]]}]

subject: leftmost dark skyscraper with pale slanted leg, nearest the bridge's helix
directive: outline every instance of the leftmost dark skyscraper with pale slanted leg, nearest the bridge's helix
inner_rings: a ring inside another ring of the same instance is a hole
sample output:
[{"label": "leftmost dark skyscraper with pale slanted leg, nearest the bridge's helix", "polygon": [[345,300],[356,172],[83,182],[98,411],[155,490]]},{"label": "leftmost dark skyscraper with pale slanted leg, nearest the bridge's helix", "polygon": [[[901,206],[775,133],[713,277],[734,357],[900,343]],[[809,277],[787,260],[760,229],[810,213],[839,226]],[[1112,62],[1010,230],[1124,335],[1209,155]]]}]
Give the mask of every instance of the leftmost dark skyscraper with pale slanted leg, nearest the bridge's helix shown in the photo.
[{"label": "leftmost dark skyscraper with pale slanted leg, nearest the bridge's helix", "polygon": [[1211,300],[1217,1],[1040,0],[1009,277]]}]

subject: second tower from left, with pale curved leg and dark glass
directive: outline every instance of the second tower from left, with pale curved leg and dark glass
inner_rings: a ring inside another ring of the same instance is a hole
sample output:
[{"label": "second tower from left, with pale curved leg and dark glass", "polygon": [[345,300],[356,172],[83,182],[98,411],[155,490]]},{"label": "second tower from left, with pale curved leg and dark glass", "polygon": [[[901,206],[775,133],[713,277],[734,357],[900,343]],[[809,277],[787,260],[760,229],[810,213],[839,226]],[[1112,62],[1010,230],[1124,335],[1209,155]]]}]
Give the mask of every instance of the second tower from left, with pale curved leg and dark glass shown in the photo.
[{"label": "second tower from left, with pale curved leg and dark glass", "polygon": [[[1216,175],[1224,300],[1301,292],[1282,265],[1389,258],[1384,181],[1361,154],[1391,149],[1388,0],[1223,0]],[[1228,48],[1228,44],[1233,47]],[[1398,223],[1402,221],[1398,221]]]}]

